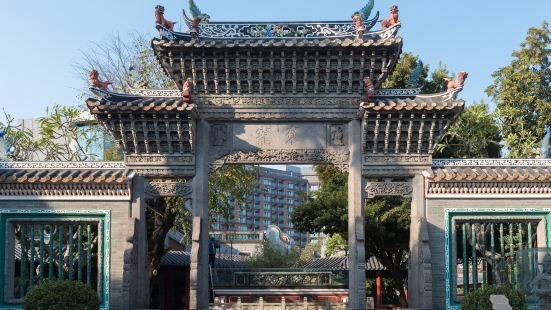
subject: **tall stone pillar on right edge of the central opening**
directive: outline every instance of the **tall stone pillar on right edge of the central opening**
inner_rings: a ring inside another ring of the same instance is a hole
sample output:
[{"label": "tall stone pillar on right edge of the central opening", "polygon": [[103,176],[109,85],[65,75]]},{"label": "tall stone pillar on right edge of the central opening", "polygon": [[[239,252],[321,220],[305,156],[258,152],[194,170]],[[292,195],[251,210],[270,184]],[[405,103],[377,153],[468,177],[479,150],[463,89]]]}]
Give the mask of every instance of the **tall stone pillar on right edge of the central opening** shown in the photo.
[{"label": "tall stone pillar on right edge of the central opening", "polygon": [[365,309],[365,232],[359,120],[348,124],[348,145],[348,300],[349,308]]}]

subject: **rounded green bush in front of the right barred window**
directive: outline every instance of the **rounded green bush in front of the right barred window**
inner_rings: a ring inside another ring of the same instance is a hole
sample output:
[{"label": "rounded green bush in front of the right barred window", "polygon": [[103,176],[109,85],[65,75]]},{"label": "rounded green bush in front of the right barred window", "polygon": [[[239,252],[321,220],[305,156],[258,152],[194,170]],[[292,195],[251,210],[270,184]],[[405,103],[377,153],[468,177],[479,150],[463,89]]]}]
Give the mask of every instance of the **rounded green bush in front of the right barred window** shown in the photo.
[{"label": "rounded green bush in front of the right barred window", "polygon": [[461,303],[463,310],[492,310],[490,295],[505,295],[509,304],[515,310],[527,310],[526,299],[518,289],[506,286],[487,286],[476,292],[469,293]]}]

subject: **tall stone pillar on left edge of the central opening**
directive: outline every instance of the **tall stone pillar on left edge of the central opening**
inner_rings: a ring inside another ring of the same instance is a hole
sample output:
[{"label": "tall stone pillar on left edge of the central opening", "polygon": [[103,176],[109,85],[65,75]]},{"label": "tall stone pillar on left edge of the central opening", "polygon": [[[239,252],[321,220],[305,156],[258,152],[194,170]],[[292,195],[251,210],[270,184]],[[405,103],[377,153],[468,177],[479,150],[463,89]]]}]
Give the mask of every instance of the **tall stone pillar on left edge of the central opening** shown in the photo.
[{"label": "tall stone pillar on left edge of the central opening", "polygon": [[190,309],[208,309],[209,264],[208,264],[208,201],[209,201],[209,125],[205,120],[197,121],[195,132],[195,177],[193,178],[193,228],[191,236],[190,264]]}]

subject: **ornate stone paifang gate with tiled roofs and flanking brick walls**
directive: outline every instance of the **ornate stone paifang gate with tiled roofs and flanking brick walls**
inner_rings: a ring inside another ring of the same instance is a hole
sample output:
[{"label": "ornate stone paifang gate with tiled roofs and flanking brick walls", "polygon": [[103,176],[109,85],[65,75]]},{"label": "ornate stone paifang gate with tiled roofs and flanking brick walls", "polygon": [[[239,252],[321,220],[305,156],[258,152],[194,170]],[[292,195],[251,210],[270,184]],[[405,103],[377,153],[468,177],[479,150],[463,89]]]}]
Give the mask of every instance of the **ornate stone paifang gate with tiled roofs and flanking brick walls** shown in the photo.
[{"label": "ornate stone paifang gate with tiled roofs and flanking brick walls", "polygon": [[[354,23],[276,25],[198,15],[185,17],[190,33],[178,33],[158,8],[152,48],[181,89],[114,93],[96,74],[98,97],[86,101],[124,162],[1,163],[0,308],[20,306],[46,277],[91,283],[103,308],[148,307],[144,199],[156,196],[192,200],[190,308],[208,308],[208,174],[225,164],[333,164],[348,172],[350,308],[365,308],[368,198],[412,197],[410,307],[457,307],[461,281],[469,287],[468,274],[459,280],[457,271],[467,253],[455,250],[457,227],[527,219],[538,232],[530,247],[545,246],[549,162],[433,161],[463,109],[456,100],[463,81],[432,95],[381,88],[402,49],[392,9],[380,31],[370,31],[377,13]],[[152,181],[159,179],[166,182]],[[56,236],[59,244],[46,242]]]}]

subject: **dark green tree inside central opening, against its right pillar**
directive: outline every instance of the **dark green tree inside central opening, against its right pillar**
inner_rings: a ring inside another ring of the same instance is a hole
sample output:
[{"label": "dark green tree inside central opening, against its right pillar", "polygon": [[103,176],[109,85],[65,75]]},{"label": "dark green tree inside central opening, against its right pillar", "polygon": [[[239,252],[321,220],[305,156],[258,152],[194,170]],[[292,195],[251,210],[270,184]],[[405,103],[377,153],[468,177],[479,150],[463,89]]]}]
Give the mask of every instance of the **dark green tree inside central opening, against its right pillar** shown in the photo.
[{"label": "dark green tree inside central opening, against its right pillar", "polygon": [[348,174],[331,165],[317,165],[314,170],[320,189],[291,214],[294,227],[303,232],[325,234],[348,231]]}]

